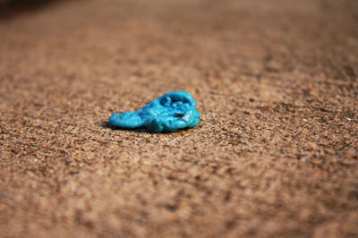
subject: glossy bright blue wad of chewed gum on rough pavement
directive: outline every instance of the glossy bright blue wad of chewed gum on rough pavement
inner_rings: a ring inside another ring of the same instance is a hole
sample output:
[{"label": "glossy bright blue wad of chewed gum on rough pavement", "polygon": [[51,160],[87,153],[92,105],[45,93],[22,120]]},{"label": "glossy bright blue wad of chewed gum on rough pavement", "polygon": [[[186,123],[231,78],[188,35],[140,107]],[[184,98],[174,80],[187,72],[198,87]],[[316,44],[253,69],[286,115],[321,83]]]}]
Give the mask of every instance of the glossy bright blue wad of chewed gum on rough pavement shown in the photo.
[{"label": "glossy bright blue wad of chewed gum on rough pavement", "polygon": [[200,122],[196,105],[189,92],[169,92],[139,111],[114,113],[109,117],[109,123],[127,129],[144,126],[149,132],[175,132]]}]

